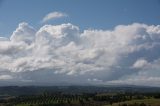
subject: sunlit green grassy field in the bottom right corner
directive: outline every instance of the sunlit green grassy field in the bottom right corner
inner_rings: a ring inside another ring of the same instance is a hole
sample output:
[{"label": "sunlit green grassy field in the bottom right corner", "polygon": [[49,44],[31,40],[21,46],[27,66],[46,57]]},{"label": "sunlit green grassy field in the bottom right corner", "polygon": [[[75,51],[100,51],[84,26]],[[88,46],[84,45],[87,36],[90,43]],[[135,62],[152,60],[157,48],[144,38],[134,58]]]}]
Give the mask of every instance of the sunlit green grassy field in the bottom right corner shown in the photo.
[{"label": "sunlit green grassy field in the bottom right corner", "polygon": [[134,104],[134,103],[145,103],[147,106],[160,106],[160,99],[143,99],[143,100],[132,100],[132,101],[125,101],[120,103],[113,103],[112,105],[105,105],[105,106],[119,106],[119,104]]}]

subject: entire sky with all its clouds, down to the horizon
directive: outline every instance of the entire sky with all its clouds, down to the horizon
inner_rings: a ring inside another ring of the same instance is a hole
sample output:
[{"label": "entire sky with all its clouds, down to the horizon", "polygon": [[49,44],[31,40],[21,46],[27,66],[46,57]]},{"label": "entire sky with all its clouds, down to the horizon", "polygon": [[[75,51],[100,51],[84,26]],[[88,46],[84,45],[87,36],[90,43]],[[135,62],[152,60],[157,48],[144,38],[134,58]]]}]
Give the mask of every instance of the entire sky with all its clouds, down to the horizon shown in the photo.
[{"label": "entire sky with all its clouds, down to the horizon", "polygon": [[160,0],[0,0],[0,84],[160,86]]}]

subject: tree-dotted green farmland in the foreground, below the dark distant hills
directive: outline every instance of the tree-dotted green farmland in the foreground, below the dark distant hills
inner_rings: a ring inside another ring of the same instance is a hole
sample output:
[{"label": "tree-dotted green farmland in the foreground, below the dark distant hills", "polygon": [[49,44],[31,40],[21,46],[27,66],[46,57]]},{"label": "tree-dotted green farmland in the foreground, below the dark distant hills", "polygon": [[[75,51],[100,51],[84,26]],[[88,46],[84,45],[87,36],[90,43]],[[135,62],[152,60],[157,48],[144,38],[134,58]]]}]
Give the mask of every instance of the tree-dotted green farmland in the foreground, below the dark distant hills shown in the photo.
[{"label": "tree-dotted green farmland in the foreground, below the dark distant hills", "polygon": [[0,106],[160,106],[160,92],[157,91],[101,90],[66,92],[63,88],[61,91],[44,90],[33,95],[6,94],[0,96]]}]

